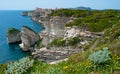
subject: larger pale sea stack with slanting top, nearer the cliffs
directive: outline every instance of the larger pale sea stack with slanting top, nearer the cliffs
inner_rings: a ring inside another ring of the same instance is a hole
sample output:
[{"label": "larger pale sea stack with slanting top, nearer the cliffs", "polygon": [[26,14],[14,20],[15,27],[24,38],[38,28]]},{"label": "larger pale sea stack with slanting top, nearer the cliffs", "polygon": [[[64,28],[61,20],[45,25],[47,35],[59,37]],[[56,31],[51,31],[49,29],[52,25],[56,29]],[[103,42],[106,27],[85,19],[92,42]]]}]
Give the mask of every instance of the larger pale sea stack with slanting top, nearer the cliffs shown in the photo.
[{"label": "larger pale sea stack with slanting top, nearer the cliffs", "polygon": [[22,43],[20,44],[20,47],[23,51],[28,51],[34,49],[34,44],[40,40],[40,37],[33,30],[24,26],[21,30],[21,40]]}]

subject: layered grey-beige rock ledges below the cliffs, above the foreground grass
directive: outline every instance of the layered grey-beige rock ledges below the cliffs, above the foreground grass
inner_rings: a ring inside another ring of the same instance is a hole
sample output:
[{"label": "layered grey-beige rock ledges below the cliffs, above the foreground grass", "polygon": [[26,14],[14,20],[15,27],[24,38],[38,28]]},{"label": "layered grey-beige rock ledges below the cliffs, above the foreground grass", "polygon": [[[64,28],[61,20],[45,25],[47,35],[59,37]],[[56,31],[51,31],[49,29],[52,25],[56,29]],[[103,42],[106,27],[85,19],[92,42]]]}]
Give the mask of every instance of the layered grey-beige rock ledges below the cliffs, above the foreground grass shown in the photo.
[{"label": "layered grey-beige rock ledges below the cliffs, above the foreground grass", "polygon": [[81,49],[79,48],[72,47],[51,47],[50,49],[43,47],[40,50],[36,49],[35,52],[32,52],[32,55],[39,61],[51,63],[54,61],[68,58],[68,56],[78,53],[80,52],[80,50]]}]

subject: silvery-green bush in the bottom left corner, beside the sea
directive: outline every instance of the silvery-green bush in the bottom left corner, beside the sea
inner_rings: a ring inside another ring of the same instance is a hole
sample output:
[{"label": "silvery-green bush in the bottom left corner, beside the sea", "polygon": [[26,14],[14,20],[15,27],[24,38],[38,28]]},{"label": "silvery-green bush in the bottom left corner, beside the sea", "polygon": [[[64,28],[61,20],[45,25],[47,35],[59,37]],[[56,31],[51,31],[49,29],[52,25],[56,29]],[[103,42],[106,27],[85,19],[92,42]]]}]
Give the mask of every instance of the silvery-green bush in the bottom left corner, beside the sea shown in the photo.
[{"label": "silvery-green bush in the bottom left corner, beside the sea", "polygon": [[33,66],[34,60],[30,60],[29,57],[20,59],[17,62],[11,62],[8,64],[5,74],[23,74],[27,69]]}]

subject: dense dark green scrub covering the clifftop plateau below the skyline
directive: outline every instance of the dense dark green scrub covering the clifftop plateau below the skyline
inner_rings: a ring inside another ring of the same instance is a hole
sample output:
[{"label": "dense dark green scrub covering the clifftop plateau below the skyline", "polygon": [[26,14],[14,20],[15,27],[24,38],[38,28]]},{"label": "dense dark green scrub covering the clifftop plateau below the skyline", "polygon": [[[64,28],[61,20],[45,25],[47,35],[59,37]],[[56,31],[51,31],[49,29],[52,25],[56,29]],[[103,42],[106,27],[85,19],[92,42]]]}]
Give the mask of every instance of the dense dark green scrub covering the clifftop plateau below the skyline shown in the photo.
[{"label": "dense dark green scrub covering the clifftop plateau below the skyline", "polygon": [[51,16],[67,16],[76,18],[73,22],[66,24],[66,27],[78,26],[87,28],[93,32],[104,31],[112,27],[120,19],[120,10],[70,10],[60,9],[53,11]]}]

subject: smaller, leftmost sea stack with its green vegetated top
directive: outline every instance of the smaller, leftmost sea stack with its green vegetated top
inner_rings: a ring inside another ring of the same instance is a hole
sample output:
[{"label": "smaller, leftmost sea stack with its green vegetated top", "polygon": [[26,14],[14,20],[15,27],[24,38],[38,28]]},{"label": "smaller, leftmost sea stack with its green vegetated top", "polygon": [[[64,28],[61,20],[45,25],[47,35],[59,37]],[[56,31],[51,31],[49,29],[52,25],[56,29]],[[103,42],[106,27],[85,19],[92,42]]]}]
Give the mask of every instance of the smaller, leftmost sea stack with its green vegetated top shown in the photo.
[{"label": "smaller, leftmost sea stack with its green vegetated top", "polygon": [[20,41],[21,41],[20,31],[16,28],[9,28],[7,32],[7,42],[16,43]]}]

